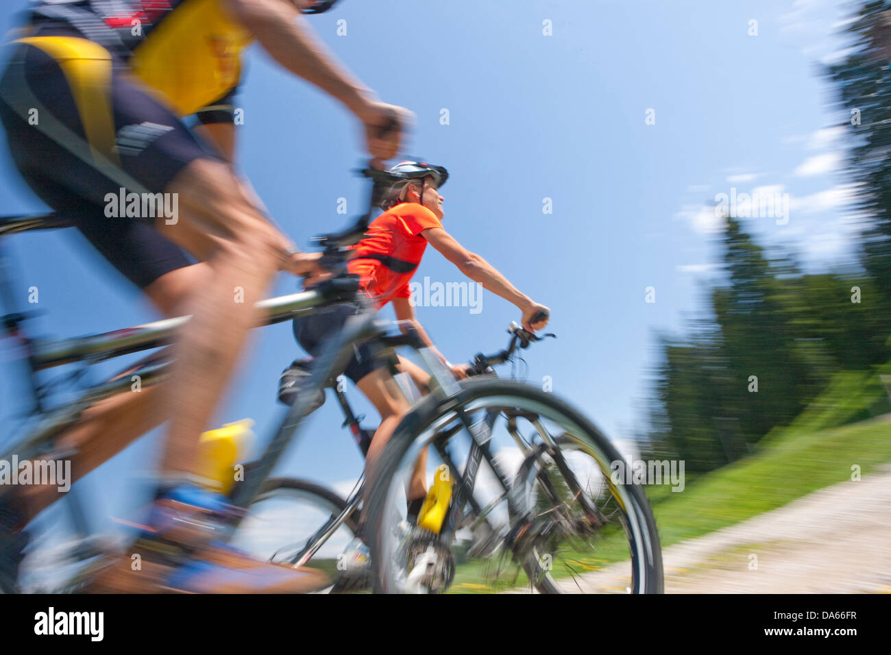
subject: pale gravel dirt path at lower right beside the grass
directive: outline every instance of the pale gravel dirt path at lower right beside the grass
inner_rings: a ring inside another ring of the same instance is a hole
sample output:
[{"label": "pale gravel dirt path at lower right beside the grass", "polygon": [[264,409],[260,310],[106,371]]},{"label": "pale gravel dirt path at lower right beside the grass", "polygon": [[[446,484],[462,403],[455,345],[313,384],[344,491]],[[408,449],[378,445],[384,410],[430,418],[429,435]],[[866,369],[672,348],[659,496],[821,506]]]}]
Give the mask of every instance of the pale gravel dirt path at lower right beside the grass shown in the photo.
[{"label": "pale gravel dirt path at lower right beside the grass", "polygon": [[[891,466],[669,546],[663,560],[667,594],[891,593]],[[585,591],[624,589],[627,565],[617,569],[584,576]]]}]

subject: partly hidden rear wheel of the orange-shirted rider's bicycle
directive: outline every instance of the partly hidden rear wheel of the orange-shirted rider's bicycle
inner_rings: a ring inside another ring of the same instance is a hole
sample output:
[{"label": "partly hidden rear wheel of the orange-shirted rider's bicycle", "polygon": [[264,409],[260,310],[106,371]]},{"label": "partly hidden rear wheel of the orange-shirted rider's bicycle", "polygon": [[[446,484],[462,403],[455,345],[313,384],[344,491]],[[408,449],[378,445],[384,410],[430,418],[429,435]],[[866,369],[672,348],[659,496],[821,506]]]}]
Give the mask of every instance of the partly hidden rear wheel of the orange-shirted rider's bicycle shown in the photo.
[{"label": "partly hidden rear wheel of the orange-shirted rider's bicycle", "polygon": [[347,516],[317,552],[304,560],[331,521],[346,508],[346,500],[320,485],[302,479],[270,478],[249,505],[231,543],[257,559],[323,570],[334,588],[339,588],[343,573],[340,558],[356,536],[357,512]]}]

